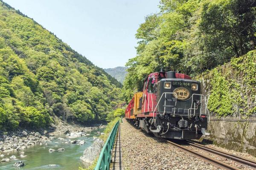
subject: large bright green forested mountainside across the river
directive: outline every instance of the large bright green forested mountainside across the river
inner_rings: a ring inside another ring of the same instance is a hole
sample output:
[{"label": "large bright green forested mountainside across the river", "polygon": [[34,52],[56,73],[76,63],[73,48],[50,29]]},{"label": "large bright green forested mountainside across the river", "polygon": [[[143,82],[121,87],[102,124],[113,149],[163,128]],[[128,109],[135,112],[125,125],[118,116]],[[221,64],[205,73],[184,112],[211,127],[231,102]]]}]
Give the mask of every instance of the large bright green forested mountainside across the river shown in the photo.
[{"label": "large bright green forested mountainside across the river", "polygon": [[0,1],[0,129],[104,120],[121,83]]}]

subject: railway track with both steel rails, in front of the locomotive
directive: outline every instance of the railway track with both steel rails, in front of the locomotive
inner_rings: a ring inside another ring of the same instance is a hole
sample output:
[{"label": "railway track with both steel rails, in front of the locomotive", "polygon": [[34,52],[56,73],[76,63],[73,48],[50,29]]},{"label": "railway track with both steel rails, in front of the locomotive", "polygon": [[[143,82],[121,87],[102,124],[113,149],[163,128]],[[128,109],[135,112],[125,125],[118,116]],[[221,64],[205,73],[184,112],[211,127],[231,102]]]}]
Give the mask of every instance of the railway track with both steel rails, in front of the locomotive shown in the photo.
[{"label": "railway track with both steel rails, in front of the locomotive", "polygon": [[[195,143],[192,141],[185,141],[186,145],[184,146],[183,144],[180,144],[180,143],[172,142],[172,141],[169,141],[166,139],[163,139],[163,140],[174,145],[175,147],[180,148],[181,150],[184,150],[187,153],[193,154],[194,156],[196,156],[200,159],[203,159],[204,161],[207,161],[208,163],[215,164],[215,166],[220,167],[221,169],[241,170],[241,168],[244,168],[244,167],[234,166],[234,165],[228,164],[224,161],[212,158],[211,156],[206,156],[206,154],[201,153],[198,150],[202,150],[203,152],[214,154],[217,157],[220,156],[220,157],[224,158],[225,161],[231,160],[231,161],[235,161],[237,164],[243,164],[244,166],[247,167],[244,169],[256,169],[256,161],[244,159],[239,156],[230,155],[229,153],[223,152],[221,150],[215,150],[215,149],[212,149],[209,147],[205,147],[202,144],[198,144],[198,143]],[[191,146],[192,146],[192,148],[191,148]],[[197,149],[197,151],[194,150],[195,148]]]}]

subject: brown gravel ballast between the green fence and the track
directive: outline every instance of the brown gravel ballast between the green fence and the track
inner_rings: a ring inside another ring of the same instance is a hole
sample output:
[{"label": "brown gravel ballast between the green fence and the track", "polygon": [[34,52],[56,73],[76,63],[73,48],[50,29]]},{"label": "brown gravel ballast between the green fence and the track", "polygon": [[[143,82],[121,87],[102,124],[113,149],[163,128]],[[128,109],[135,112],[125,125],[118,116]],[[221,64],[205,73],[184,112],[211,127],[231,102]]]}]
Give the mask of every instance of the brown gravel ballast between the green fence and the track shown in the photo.
[{"label": "brown gravel ballast between the green fence and the track", "polygon": [[128,170],[218,170],[212,164],[171,144],[135,129],[125,119],[121,124],[123,165]]}]

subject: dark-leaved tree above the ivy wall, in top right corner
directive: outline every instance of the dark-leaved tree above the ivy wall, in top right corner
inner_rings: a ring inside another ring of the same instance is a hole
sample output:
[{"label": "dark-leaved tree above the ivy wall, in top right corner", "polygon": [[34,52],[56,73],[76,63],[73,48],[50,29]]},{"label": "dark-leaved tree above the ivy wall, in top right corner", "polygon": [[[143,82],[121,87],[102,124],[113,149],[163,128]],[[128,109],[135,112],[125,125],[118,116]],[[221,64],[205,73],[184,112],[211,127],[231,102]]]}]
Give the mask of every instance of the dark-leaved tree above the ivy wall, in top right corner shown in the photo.
[{"label": "dark-leaved tree above the ivy wall, in top right corner", "polygon": [[215,0],[202,4],[199,29],[204,33],[204,45],[209,52],[237,57],[246,54],[256,46],[255,26],[253,1]]}]

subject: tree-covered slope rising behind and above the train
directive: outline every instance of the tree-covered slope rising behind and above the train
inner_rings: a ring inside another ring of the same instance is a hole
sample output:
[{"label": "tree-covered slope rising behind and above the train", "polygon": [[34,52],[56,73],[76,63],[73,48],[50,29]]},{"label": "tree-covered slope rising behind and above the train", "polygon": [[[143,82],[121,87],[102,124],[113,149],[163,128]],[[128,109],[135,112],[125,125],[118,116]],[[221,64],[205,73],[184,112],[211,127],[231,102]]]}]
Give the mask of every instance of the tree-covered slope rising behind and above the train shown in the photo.
[{"label": "tree-covered slope rising behind and above the train", "polygon": [[255,0],[161,0],[159,8],[137,30],[137,57],[126,64],[126,101],[160,68],[195,76],[255,49]]}]

